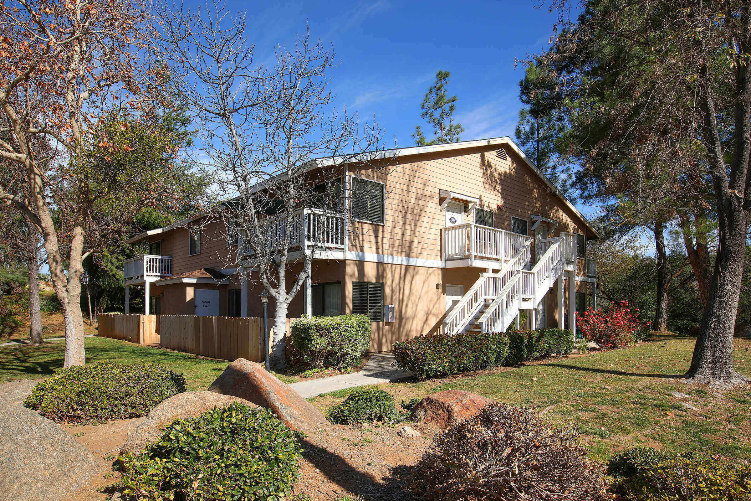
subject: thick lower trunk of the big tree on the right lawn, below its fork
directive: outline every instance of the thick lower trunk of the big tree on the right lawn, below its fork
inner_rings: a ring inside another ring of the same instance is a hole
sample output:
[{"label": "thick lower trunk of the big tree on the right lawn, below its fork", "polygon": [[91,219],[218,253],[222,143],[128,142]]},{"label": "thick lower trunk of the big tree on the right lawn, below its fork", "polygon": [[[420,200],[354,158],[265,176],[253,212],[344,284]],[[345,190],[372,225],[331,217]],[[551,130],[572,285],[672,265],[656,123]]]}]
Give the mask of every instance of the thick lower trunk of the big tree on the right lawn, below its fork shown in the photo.
[{"label": "thick lower trunk of the big tree on the right lawn, below its fork", "polygon": [[733,333],[746,253],[748,216],[732,201],[720,207],[719,247],[701,331],[686,382],[726,389],[749,382],[733,369]]}]

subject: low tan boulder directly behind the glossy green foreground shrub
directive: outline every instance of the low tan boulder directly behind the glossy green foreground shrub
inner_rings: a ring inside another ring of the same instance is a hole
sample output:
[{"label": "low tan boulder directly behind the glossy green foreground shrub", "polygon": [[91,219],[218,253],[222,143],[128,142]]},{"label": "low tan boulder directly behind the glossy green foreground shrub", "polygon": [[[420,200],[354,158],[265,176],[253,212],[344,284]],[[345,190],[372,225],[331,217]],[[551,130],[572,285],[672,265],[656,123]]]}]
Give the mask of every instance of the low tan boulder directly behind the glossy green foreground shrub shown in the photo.
[{"label": "low tan boulder directly behind the glossy green foreground shrub", "polygon": [[233,402],[255,407],[255,403],[242,398],[214,393],[213,391],[185,391],[164,400],[149,412],[128,440],[120,448],[120,453],[140,452],[161,437],[167,424],[175,419],[193,418],[214,407],[226,407]]}]

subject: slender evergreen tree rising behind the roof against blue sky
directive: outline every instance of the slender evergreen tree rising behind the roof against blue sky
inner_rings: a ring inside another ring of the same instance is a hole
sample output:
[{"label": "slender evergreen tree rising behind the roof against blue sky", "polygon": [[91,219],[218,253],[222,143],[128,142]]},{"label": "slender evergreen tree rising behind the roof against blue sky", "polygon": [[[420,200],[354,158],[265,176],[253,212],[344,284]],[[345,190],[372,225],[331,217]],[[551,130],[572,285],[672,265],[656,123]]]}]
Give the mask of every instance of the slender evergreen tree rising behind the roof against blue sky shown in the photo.
[{"label": "slender evergreen tree rising behind the roof against blue sky", "polygon": [[421,125],[418,125],[415,127],[415,134],[412,134],[418,146],[455,143],[460,140],[460,134],[464,128],[460,123],[454,123],[454,110],[456,109],[454,103],[457,102],[457,96],[448,97],[446,92],[450,76],[448,71],[439,70],[436,73],[436,83],[425,93],[420,116],[433,128],[433,139],[427,140]]}]

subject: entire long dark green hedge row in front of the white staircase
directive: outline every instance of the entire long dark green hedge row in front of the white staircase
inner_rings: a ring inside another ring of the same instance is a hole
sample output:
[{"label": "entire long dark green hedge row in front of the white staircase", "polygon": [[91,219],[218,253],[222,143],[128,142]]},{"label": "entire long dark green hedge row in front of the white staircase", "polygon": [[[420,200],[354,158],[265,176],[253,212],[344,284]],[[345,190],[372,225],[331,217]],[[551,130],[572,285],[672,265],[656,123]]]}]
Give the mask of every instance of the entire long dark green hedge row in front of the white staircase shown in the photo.
[{"label": "entire long dark green hedge row in front of the white staircase", "polygon": [[569,355],[573,349],[572,331],[551,327],[532,332],[511,330],[413,337],[394,344],[394,358],[400,369],[429,379],[520,364],[538,357]]}]

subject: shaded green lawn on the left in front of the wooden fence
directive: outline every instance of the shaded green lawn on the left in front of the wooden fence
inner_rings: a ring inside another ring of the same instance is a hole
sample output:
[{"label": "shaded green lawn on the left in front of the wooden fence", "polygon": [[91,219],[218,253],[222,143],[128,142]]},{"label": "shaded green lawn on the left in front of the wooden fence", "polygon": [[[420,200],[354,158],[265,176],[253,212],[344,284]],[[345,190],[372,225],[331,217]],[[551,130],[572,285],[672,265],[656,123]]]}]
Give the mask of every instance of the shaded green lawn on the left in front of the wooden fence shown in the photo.
[{"label": "shaded green lawn on the left in front of the wooden fence", "polygon": [[[0,347],[0,382],[14,379],[38,379],[50,376],[62,367],[65,343],[53,341],[44,346]],[[135,345],[103,337],[86,338],[86,362],[101,360],[118,362],[152,362],[168,367],[185,376],[188,389],[201,391],[209,388],[228,361],[203,358],[189,353],[173,352],[150,346]],[[279,376],[285,382],[297,378]]]}]

